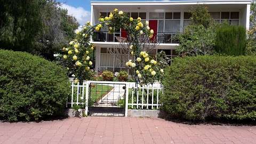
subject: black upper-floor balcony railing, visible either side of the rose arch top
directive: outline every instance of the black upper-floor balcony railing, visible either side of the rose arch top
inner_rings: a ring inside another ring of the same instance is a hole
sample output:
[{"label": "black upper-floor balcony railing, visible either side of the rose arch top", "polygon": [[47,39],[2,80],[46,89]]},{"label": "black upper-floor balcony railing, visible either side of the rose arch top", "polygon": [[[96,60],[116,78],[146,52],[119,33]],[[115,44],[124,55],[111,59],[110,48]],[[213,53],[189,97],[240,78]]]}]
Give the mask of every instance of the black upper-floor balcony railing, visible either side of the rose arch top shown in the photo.
[{"label": "black upper-floor balcony railing, visible either side of the rose arch top", "polygon": [[[178,39],[175,37],[177,33],[157,33],[156,38],[158,43],[177,44]],[[107,31],[102,31],[93,34],[94,42],[118,42],[115,37],[121,36],[121,33],[108,34]]]}]

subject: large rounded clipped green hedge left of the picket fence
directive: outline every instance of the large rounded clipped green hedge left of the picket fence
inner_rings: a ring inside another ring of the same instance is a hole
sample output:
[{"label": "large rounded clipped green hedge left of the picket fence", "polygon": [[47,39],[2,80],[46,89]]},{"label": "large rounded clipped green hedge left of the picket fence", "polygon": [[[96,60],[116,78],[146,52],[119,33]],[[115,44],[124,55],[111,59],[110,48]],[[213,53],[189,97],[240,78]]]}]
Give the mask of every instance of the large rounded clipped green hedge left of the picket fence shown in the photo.
[{"label": "large rounded clipped green hedge left of the picket fence", "polygon": [[70,84],[61,66],[6,50],[0,50],[0,66],[0,119],[39,121],[64,110]]}]

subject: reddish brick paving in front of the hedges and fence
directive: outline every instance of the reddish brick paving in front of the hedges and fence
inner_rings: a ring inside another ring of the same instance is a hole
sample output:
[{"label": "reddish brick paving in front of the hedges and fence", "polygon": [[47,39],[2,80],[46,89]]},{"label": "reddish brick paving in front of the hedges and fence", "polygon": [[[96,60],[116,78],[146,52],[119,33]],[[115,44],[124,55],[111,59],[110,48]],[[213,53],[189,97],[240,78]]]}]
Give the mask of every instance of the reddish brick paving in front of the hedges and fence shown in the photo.
[{"label": "reddish brick paving in front of the hedges and fence", "polygon": [[187,125],[133,117],[0,123],[0,143],[256,143],[256,126]]}]

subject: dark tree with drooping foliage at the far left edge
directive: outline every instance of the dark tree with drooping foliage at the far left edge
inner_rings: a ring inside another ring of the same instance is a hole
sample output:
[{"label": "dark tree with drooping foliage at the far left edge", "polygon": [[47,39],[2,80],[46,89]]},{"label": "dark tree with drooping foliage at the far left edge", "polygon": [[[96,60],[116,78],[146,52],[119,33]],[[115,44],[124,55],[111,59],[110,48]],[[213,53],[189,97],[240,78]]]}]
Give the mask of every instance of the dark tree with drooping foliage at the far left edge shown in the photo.
[{"label": "dark tree with drooping foliage at the far left edge", "polygon": [[2,49],[31,51],[43,25],[42,1],[0,0],[0,45]]}]

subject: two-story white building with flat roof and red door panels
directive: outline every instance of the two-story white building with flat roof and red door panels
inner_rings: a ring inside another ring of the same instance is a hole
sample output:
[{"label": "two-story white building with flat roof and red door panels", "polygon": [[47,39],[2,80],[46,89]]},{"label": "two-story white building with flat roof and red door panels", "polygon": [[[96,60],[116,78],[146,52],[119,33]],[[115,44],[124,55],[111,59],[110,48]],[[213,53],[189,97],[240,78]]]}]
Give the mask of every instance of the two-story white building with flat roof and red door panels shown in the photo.
[{"label": "two-story white building with flat roof and red door panels", "polygon": [[[149,21],[149,27],[154,30],[157,41],[160,43],[150,54],[155,55],[164,50],[170,58],[177,56],[175,46],[179,45],[174,36],[182,33],[189,25],[191,7],[203,4],[209,7],[212,18],[218,22],[228,20],[230,25],[241,25],[249,29],[250,0],[205,0],[205,1],[161,1],[161,2],[91,2],[91,23],[99,22],[99,15],[106,17],[114,9],[127,12],[130,17]],[[123,37],[126,32],[122,29],[114,34],[101,30],[100,35],[91,39],[95,45],[95,70],[110,71],[124,70],[125,64],[120,63],[107,51],[108,47],[119,45],[115,37]],[[129,55],[125,55],[126,60]],[[126,61],[125,60],[125,61]]]}]

